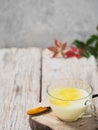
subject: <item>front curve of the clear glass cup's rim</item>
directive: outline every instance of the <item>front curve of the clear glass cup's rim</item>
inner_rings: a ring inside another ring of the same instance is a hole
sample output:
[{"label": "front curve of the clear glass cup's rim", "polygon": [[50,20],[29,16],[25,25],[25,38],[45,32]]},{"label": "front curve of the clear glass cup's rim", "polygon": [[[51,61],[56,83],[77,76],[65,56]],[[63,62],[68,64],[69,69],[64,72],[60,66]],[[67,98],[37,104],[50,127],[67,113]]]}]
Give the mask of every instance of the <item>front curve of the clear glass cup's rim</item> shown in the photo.
[{"label": "front curve of the clear glass cup's rim", "polygon": [[65,100],[65,99],[63,100],[63,99],[60,99],[60,98],[57,98],[57,97],[51,95],[50,92],[49,92],[49,88],[50,88],[50,87],[51,87],[51,86],[48,85],[48,87],[47,87],[47,89],[46,89],[47,94],[48,94],[49,96],[51,96],[52,98],[57,99],[57,100],[60,100],[60,101],[79,101],[79,100],[83,100],[83,99],[88,98],[89,96],[93,95],[93,87],[92,87],[91,85],[89,85],[88,88],[90,88],[90,92],[88,93],[87,96],[84,96],[84,97],[82,97],[82,98],[75,99],[75,100]]}]

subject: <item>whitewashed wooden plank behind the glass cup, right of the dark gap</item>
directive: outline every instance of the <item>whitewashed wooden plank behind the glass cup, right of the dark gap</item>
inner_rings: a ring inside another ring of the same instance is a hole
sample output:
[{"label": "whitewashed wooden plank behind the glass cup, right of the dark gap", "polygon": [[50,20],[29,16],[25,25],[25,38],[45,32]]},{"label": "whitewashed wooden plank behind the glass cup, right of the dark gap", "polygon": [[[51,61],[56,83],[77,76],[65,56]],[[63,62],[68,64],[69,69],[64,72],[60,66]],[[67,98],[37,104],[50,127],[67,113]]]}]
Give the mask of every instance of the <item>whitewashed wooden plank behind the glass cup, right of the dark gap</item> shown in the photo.
[{"label": "whitewashed wooden plank behind the glass cup, right of the dark gap", "polygon": [[[47,102],[46,88],[51,82],[64,78],[76,78],[91,82],[98,93],[98,68],[93,56],[87,58],[52,58],[52,53],[43,50],[42,101]],[[98,99],[96,100],[98,104]]]}]

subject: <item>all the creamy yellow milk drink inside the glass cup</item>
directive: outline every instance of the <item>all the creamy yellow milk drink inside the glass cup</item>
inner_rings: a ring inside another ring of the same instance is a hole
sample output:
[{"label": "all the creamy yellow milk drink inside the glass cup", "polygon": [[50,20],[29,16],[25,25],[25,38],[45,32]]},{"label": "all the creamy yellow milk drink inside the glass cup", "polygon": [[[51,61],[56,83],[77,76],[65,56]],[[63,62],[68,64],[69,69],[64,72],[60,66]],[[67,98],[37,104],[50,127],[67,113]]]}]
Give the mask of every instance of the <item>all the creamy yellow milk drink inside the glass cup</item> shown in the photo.
[{"label": "all the creamy yellow milk drink inside the glass cup", "polygon": [[[77,120],[87,109],[85,102],[88,92],[78,88],[57,88],[52,90],[50,105],[55,115],[65,121]],[[55,97],[55,98],[54,98]]]}]

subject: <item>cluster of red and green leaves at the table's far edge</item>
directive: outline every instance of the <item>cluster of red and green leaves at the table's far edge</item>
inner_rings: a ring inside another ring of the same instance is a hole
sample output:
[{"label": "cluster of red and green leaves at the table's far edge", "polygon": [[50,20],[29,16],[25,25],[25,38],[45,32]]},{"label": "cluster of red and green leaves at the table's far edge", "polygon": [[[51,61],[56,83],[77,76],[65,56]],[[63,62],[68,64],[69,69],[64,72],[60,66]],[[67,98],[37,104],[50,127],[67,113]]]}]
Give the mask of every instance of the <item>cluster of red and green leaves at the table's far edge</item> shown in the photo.
[{"label": "cluster of red and green leaves at the table's far edge", "polygon": [[[98,26],[97,26],[98,31]],[[91,35],[86,41],[74,40],[70,48],[67,48],[67,43],[61,43],[59,40],[54,41],[54,46],[48,49],[53,52],[52,57],[86,57],[89,58],[93,55],[98,58],[98,33]]]}]

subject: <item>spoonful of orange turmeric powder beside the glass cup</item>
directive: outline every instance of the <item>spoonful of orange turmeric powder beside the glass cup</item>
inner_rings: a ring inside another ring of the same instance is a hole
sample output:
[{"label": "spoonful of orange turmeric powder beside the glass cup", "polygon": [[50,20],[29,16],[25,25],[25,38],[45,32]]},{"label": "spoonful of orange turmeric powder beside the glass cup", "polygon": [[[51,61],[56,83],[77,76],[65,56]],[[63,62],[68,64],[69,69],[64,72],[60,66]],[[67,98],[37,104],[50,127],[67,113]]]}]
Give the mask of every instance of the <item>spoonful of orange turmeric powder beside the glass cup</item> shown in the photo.
[{"label": "spoonful of orange turmeric powder beside the glass cup", "polygon": [[44,112],[48,112],[50,110],[50,107],[37,107],[33,108],[27,111],[28,115],[36,115],[36,114],[41,114]]}]

